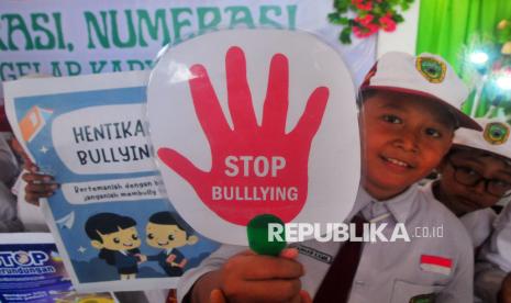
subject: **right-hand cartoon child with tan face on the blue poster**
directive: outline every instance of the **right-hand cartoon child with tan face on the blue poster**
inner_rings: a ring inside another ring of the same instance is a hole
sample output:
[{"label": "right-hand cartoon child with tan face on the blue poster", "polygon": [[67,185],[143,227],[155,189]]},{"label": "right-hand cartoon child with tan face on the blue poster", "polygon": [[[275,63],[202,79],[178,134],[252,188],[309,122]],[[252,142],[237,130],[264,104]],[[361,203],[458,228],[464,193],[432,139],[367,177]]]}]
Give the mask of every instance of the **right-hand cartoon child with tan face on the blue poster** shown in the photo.
[{"label": "right-hand cartoon child with tan face on the blue poster", "polygon": [[193,245],[199,238],[187,236],[187,231],[179,225],[170,212],[155,213],[146,226],[147,244],[163,248],[158,255],[147,256],[149,261],[158,261],[168,277],[180,277],[188,260],[177,247]]}]

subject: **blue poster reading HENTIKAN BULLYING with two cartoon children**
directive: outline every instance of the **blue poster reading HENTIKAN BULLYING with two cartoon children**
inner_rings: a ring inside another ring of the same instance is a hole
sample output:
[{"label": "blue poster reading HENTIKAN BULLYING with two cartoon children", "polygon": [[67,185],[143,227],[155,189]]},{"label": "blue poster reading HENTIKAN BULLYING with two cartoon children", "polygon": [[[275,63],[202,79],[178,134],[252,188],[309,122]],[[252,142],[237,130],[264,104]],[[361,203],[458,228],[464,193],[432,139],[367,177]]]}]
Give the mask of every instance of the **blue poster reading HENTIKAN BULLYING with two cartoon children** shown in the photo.
[{"label": "blue poster reading HENTIKAN BULLYING with two cartoon children", "polygon": [[8,82],[14,134],[59,183],[43,211],[79,291],[173,288],[218,248],[167,199],[148,139],[148,74]]}]

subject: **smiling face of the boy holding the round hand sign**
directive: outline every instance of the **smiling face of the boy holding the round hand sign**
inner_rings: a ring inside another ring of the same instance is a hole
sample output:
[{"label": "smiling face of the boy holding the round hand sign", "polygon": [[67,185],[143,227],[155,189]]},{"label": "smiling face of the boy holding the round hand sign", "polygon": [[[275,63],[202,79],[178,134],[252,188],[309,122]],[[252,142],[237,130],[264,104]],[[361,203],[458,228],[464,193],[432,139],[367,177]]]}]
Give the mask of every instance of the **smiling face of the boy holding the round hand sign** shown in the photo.
[{"label": "smiling face of the boy holding the round hand sign", "polygon": [[369,92],[359,117],[362,178],[369,194],[390,199],[424,178],[448,152],[454,117],[427,98]]}]

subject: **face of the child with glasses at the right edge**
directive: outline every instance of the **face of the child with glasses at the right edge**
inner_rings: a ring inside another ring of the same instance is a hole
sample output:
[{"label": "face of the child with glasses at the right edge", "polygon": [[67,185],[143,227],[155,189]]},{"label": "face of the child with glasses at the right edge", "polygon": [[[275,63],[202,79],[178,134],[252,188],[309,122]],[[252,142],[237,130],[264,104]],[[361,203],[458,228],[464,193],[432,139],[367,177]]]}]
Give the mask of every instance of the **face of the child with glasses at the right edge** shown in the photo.
[{"label": "face of the child with glasses at the right edge", "polygon": [[459,175],[457,178],[469,179],[469,176],[477,175],[493,180],[495,188],[511,187],[509,160],[475,148],[456,148],[442,162],[440,171],[442,178],[437,198],[458,216],[492,206],[502,197],[487,192],[484,181],[475,186],[465,186],[456,180],[456,173]]}]

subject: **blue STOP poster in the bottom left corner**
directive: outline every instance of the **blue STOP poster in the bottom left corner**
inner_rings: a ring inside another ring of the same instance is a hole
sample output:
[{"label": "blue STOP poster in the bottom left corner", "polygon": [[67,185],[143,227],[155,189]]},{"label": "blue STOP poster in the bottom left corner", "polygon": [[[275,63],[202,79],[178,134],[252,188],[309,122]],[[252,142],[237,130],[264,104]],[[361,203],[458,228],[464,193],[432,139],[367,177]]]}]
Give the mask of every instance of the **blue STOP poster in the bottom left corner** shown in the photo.
[{"label": "blue STOP poster in the bottom left corner", "polygon": [[51,234],[0,234],[0,302],[115,302],[75,291]]}]

